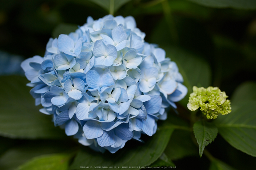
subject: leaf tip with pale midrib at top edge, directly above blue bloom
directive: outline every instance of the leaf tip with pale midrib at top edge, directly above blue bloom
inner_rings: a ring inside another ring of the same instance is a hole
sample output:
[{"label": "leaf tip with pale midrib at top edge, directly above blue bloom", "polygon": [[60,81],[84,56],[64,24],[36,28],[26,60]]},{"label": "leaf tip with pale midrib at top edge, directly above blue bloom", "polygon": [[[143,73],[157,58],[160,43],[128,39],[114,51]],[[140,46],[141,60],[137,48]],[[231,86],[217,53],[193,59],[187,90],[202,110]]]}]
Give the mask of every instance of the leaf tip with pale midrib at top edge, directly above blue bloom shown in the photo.
[{"label": "leaf tip with pale midrib at top edge, directly above blue bloom", "polygon": [[124,4],[128,3],[131,0],[89,0],[102,8],[111,11],[113,8],[114,12],[117,11]]}]

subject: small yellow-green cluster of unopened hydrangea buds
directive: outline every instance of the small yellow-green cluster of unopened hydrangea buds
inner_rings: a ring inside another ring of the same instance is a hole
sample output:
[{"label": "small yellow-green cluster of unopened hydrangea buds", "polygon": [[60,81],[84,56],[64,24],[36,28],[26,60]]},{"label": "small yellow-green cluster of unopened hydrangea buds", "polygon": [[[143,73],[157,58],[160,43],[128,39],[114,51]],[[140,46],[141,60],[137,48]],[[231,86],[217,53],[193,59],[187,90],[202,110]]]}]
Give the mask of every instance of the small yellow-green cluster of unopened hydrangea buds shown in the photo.
[{"label": "small yellow-green cluster of unopened hydrangea buds", "polygon": [[216,119],[219,114],[227,115],[231,112],[230,100],[228,96],[221,92],[218,87],[208,87],[207,89],[193,86],[193,93],[190,94],[187,107],[191,111],[200,110],[207,119]]}]

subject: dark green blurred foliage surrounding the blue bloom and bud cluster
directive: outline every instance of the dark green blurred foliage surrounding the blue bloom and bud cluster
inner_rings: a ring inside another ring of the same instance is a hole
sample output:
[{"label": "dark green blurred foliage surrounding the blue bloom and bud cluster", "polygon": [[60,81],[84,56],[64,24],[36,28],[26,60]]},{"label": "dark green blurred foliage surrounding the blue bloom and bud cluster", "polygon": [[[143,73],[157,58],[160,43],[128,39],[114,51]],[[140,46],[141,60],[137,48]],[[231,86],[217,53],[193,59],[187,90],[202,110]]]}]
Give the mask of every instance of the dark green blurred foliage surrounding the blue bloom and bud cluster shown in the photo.
[{"label": "dark green blurred foliage surrounding the blue bloom and bud cluster", "polygon": [[[25,77],[1,76],[0,169],[255,169],[255,0],[1,0],[0,50],[23,58],[44,56],[50,37],[75,31],[87,16],[98,19],[113,12],[133,16],[146,33],[145,41],[158,44],[177,63],[188,88],[188,95],[177,104],[179,114],[170,109],[154,136],[142,136],[145,143],[131,140],[116,154],[99,154],[54,128],[50,116],[34,106]],[[219,134],[203,146],[207,151],[201,158],[186,107],[194,85],[218,86],[230,96],[233,108],[210,122]]]}]

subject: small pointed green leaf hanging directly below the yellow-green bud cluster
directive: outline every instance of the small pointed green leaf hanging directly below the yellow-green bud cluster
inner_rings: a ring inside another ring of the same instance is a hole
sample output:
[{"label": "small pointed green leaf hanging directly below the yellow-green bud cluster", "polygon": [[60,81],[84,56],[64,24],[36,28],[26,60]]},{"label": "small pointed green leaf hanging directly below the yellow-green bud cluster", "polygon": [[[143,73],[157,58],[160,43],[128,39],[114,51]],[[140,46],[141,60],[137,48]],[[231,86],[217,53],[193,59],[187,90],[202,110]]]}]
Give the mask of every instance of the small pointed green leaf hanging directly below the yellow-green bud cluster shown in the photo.
[{"label": "small pointed green leaf hanging directly below the yellow-green bud cluster", "polygon": [[199,155],[202,157],[204,147],[217,137],[218,128],[212,123],[200,120],[193,125],[193,131],[199,145]]}]

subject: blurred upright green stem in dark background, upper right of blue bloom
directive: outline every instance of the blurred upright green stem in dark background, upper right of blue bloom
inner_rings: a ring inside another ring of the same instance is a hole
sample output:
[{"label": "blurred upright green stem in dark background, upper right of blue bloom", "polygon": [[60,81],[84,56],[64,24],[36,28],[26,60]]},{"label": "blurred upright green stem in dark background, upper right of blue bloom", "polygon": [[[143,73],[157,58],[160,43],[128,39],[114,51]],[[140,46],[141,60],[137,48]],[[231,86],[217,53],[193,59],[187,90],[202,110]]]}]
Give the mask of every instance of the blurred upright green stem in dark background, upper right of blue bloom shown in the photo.
[{"label": "blurred upright green stem in dark background, upper right of blue bloom", "polygon": [[162,1],[162,6],[163,6],[163,13],[165,15],[166,22],[169,26],[169,30],[170,30],[173,42],[178,43],[178,34],[177,34],[175,23],[172,18],[171,8],[168,3],[168,0]]}]

